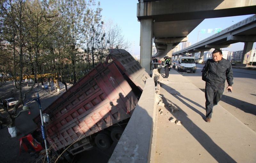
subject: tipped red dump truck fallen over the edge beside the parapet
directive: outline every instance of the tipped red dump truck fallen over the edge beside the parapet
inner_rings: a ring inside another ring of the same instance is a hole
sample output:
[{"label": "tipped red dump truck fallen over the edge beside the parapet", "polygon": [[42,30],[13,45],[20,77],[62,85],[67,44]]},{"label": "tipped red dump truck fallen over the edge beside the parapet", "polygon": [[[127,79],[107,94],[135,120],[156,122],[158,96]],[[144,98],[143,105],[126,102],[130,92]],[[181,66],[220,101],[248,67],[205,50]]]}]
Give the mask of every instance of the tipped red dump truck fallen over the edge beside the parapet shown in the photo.
[{"label": "tipped red dump truck fallen over the edge beside the parapet", "polygon": [[[47,142],[54,151],[66,149],[72,155],[93,145],[108,149],[122,135],[149,77],[127,51],[109,50],[105,63],[43,111],[50,119],[45,124]],[[40,115],[34,121],[40,126]]]}]

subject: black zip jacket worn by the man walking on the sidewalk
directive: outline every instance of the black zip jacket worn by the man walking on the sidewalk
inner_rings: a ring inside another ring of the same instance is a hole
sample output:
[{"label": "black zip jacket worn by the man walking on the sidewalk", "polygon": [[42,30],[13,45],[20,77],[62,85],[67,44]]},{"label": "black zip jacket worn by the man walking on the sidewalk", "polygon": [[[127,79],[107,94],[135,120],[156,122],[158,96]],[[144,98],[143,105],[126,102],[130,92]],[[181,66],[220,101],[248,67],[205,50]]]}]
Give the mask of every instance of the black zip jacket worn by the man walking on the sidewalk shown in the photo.
[{"label": "black zip jacket worn by the man walking on the sidewalk", "polygon": [[[215,62],[213,59],[209,59],[210,65],[209,65],[209,71],[206,76],[206,82],[211,84],[222,84],[225,83],[225,80],[227,79],[228,86],[232,86],[233,84],[233,71],[231,63],[222,58],[220,61]],[[207,71],[206,67],[208,64],[208,61],[204,65],[203,72]]]}]

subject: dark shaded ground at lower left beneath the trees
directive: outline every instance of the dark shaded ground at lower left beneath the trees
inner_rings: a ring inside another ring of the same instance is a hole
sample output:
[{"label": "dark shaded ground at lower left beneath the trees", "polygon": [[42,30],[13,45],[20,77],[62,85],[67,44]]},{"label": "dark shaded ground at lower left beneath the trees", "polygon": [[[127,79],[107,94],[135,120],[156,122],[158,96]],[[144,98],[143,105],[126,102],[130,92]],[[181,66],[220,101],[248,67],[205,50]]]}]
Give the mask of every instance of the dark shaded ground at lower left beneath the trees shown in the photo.
[{"label": "dark shaded ground at lower left beneath the trees", "polygon": [[[8,83],[7,83],[8,84]],[[12,86],[12,84],[10,84]],[[70,87],[71,85],[68,85]],[[24,86],[24,89],[26,86]],[[6,87],[0,88],[0,96],[4,96],[9,89]],[[64,85],[60,84],[60,93],[54,90],[53,84],[51,88],[51,92],[49,89],[43,89],[41,85],[38,88],[34,88],[34,90],[30,93],[27,99],[32,99],[36,97],[36,93],[39,92],[39,97],[42,105],[42,109],[46,108],[50,105],[55,99],[57,99],[61,93],[64,92]],[[7,95],[9,96],[9,94]],[[15,96],[15,95],[14,95]],[[16,97],[17,98],[17,97]],[[3,126],[0,129],[0,162],[1,163],[36,163],[43,162],[42,159],[39,159],[37,155],[29,154],[26,152],[21,152],[19,150],[19,138],[27,135],[29,132],[33,131],[36,128],[36,125],[33,123],[33,118],[39,115],[39,109],[36,102],[29,102],[27,104],[31,109],[31,114],[27,112],[21,113],[21,115],[16,119],[16,127],[19,130],[19,135],[15,138],[12,138],[8,132],[8,128]],[[10,108],[11,110],[12,108]],[[22,108],[20,107],[19,110]],[[6,113],[3,109],[0,109],[1,115],[6,116]]]}]

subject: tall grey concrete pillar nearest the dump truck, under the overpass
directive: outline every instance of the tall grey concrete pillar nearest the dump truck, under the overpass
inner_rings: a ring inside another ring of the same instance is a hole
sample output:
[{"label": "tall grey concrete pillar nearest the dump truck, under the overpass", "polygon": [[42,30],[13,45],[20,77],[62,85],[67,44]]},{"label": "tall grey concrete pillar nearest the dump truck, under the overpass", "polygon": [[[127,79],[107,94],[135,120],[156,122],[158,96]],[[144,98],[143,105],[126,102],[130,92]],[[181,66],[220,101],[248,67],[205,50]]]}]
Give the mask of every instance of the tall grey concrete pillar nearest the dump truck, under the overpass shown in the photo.
[{"label": "tall grey concrete pillar nearest the dump truck, under the overpass", "polygon": [[152,57],[153,44],[153,20],[140,20],[140,66],[145,68],[146,72],[150,72],[150,64]]}]

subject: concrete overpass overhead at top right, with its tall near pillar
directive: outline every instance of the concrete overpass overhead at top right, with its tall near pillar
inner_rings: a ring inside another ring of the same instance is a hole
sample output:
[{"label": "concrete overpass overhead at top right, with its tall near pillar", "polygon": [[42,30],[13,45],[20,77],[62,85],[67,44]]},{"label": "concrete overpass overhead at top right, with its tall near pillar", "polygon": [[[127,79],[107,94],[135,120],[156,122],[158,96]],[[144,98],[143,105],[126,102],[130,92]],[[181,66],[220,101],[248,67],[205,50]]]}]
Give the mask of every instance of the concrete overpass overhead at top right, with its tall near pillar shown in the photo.
[{"label": "concrete overpass overhead at top right, with its tall near pillar", "polygon": [[172,49],[204,19],[256,14],[256,1],[241,0],[138,0],[140,65],[150,71],[153,40],[156,57],[172,57]]}]

